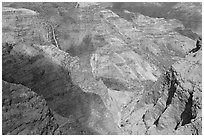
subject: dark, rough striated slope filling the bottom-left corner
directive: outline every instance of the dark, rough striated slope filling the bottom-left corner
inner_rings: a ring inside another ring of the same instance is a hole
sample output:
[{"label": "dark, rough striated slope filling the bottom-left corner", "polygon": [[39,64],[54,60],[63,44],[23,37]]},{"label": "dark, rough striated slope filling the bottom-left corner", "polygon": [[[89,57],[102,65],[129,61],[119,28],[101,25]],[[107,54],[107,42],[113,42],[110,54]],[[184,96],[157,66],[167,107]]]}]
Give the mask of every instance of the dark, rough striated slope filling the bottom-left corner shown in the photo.
[{"label": "dark, rough striated slope filling the bottom-left corner", "polygon": [[2,81],[2,133],[54,134],[58,124],[46,101],[29,88]]}]

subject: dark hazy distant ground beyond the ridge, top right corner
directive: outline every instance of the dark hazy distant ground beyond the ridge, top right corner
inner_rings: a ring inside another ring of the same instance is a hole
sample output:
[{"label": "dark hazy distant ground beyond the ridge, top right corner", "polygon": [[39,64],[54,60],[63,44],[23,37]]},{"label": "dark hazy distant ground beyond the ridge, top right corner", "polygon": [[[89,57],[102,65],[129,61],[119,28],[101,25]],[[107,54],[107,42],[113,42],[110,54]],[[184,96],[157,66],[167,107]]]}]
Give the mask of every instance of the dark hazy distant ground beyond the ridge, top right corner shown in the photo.
[{"label": "dark hazy distant ground beyond the ridge, top right corner", "polygon": [[116,2],[109,7],[114,11],[126,9],[145,16],[177,19],[185,28],[176,31],[191,39],[202,35],[202,4],[199,2]]}]

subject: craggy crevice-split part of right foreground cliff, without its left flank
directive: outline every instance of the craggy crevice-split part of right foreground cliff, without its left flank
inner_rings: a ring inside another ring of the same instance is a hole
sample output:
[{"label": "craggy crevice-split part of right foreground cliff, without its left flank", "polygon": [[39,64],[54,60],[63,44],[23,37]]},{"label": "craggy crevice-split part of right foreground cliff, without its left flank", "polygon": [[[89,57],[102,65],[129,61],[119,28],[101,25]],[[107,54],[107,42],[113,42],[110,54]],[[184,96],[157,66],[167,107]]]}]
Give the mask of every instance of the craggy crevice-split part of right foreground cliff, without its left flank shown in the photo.
[{"label": "craggy crevice-split part of right foreground cliff, without its left flank", "polygon": [[166,73],[163,96],[144,114],[147,134],[202,134],[201,60],[190,54]]}]

